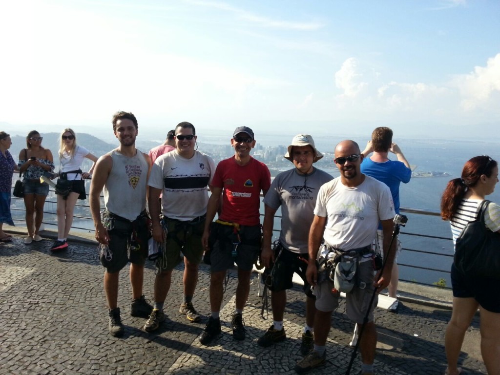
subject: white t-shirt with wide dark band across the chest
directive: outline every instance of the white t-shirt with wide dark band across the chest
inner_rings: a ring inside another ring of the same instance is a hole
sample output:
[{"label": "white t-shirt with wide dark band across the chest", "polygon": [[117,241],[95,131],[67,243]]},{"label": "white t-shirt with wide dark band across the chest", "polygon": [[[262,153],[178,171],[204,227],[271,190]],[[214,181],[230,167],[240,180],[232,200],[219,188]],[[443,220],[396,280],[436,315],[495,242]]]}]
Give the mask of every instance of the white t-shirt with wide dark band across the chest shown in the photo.
[{"label": "white t-shirt with wide dark band across the chest", "polygon": [[186,159],[177,150],[158,156],[147,184],[163,189],[161,213],[181,221],[192,220],[206,213],[207,185],[211,183],[215,163],[199,151]]}]

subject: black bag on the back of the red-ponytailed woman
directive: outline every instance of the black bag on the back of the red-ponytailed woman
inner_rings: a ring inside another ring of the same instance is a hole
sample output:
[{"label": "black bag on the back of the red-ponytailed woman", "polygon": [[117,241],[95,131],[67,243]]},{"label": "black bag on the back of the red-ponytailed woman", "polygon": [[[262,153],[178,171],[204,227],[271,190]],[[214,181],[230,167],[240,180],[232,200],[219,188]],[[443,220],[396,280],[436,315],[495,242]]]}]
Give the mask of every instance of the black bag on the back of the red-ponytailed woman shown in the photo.
[{"label": "black bag on the back of the red-ponytailed woman", "polygon": [[484,224],[489,200],[483,200],[475,220],[468,222],[456,239],[455,267],[469,276],[500,278],[500,233]]}]

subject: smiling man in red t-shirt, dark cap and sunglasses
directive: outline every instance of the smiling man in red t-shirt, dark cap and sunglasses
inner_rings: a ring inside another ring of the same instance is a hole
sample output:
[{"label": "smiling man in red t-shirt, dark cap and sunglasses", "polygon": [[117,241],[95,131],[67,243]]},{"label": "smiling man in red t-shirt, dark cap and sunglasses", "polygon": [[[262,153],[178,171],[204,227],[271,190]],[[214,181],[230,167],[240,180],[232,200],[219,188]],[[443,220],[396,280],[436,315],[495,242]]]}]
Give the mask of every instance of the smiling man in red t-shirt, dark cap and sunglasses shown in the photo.
[{"label": "smiling man in red t-shirt, dark cap and sunglasses", "polygon": [[[231,322],[232,335],[236,340],[245,338],[242,312],[250,289],[252,266],[260,253],[260,191],[265,195],[271,184],[267,166],[250,156],[255,139],[249,127],[240,126],[234,130],[231,146],[234,147],[234,156],[220,161],[215,169],[201,237],[205,251],[210,250],[211,314],[199,336],[203,345],[220,333],[224,275],[234,262],[238,266],[238,286]],[[211,223],[221,195],[222,211]]]}]

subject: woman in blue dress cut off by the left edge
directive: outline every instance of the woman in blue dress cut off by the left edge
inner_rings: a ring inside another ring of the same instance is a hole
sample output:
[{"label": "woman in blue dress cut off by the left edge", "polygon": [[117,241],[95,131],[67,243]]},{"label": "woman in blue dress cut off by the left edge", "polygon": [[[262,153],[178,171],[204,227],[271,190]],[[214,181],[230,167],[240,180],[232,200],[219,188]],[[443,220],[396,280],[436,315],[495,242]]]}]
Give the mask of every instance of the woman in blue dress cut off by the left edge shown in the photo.
[{"label": "woman in blue dress cut off by the left edge", "polygon": [[17,170],[17,165],[8,149],[12,141],[10,135],[0,131],[0,242],[10,242],[12,236],[3,231],[3,223],[14,225],[10,214],[10,188],[12,174]]}]

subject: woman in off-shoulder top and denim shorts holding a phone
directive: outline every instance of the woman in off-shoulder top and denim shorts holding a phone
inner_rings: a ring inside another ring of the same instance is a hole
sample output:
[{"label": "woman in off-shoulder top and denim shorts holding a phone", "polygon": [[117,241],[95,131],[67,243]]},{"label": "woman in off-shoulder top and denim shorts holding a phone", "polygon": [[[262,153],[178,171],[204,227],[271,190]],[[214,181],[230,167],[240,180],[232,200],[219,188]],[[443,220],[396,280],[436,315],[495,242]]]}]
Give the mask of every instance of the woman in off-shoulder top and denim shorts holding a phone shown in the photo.
[{"label": "woman in off-shoulder top and denim shorts holding a phone", "polygon": [[26,136],[26,146],[19,152],[17,166],[24,173],[24,205],[26,206],[26,227],[28,235],[25,244],[31,241],[41,241],[38,234],[43,220],[43,205],[48,195],[48,183],[41,182],[40,177],[44,172],[54,169],[52,152],[41,146],[43,137],[36,130],[31,130]]}]

